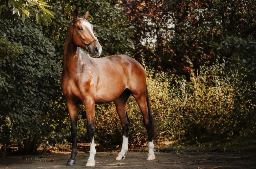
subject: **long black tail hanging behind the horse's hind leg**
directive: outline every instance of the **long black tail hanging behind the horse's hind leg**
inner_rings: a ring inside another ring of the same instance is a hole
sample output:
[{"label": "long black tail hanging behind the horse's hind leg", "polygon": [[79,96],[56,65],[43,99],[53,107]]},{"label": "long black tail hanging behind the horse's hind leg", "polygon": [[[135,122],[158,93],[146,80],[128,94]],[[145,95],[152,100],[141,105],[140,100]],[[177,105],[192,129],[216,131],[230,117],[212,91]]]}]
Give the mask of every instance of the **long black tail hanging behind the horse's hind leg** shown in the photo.
[{"label": "long black tail hanging behind the horse's hind leg", "polygon": [[149,103],[149,99],[148,99],[148,88],[146,86],[146,90],[147,90],[147,106],[148,106],[148,126],[147,126],[147,131],[148,131],[148,141],[152,141],[152,139],[154,138],[154,136],[156,136],[156,126],[151,114],[151,108],[150,108],[150,103]]}]

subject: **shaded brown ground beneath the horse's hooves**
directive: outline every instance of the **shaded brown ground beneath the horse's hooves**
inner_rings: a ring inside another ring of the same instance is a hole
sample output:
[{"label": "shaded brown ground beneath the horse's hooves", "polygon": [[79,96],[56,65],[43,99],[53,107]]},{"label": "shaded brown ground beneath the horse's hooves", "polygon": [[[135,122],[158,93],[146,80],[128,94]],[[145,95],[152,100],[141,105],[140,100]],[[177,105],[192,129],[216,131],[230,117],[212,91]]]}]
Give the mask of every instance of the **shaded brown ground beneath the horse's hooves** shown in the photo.
[{"label": "shaded brown ground beneath the horse's hooves", "polygon": [[[256,156],[252,152],[188,152],[173,154],[156,152],[156,160],[147,161],[147,152],[128,152],[122,161],[116,161],[117,152],[97,152],[96,166],[87,168],[148,168],[148,169],[210,169],[210,168],[256,168]],[[79,152],[76,165],[65,165],[70,153],[49,153],[29,156],[7,156],[0,159],[0,168],[46,169],[85,168],[88,153]],[[121,163],[121,165],[118,163]]]}]

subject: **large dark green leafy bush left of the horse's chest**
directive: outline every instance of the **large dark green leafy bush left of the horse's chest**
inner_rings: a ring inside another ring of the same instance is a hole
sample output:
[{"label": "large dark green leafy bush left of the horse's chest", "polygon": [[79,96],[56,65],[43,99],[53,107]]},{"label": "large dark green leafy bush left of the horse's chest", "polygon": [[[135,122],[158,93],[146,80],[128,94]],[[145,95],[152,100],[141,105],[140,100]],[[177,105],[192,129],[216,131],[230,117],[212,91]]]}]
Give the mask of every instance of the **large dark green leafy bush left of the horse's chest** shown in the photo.
[{"label": "large dark green leafy bush left of the horse's chest", "polygon": [[44,121],[59,88],[60,64],[52,44],[35,24],[23,24],[16,17],[0,22],[6,39],[0,61],[4,79],[0,88],[1,128],[8,126],[20,151],[35,152],[44,135],[52,130]]}]

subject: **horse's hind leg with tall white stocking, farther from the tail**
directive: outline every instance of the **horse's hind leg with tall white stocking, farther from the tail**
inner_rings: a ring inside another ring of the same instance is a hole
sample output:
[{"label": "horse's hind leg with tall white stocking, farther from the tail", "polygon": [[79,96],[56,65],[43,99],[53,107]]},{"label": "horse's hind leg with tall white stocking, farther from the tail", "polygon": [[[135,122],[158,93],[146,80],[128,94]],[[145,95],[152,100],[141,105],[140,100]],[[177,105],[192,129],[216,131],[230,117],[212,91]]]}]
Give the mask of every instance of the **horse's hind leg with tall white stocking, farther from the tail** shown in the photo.
[{"label": "horse's hind leg with tall white stocking, farther from the tail", "polygon": [[129,123],[125,105],[128,97],[130,96],[130,90],[126,89],[121,96],[115,99],[115,107],[117,109],[117,114],[121,119],[122,130],[123,130],[123,139],[122,139],[122,149],[121,152],[117,155],[115,160],[124,160],[124,154],[128,151],[128,132],[129,132]]}]

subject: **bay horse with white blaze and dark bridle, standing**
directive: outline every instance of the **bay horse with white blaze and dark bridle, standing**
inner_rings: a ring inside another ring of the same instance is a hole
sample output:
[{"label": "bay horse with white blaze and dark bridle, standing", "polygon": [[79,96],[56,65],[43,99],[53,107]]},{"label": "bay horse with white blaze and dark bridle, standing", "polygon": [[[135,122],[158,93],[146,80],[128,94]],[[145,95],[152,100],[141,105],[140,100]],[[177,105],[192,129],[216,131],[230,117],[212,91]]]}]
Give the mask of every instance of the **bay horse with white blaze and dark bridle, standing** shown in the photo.
[{"label": "bay horse with white blaze and dark bridle, standing", "polygon": [[[71,121],[72,152],[67,165],[75,165],[77,154],[76,136],[78,104],[83,103],[86,110],[87,134],[90,140],[90,155],[86,166],[95,166],[96,154],[94,142],[95,104],[113,101],[121,119],[123,141],[121,152],[116,160],[123,160],[128,151],[129,118],[126,101],[132,95],[143,115],[148,134],[148,158],[154,160],[153,137],[155,125],[150,112],[145,69],[135,59],[126,55],[99,57],[102,51],[100,43],[93,34],[93,25],[89,23],[87,11],[79,17],[78,10],[69,25],[63,53],[61,88],[66,98]],[[92,57],[84,53],[88,51]]]}]

